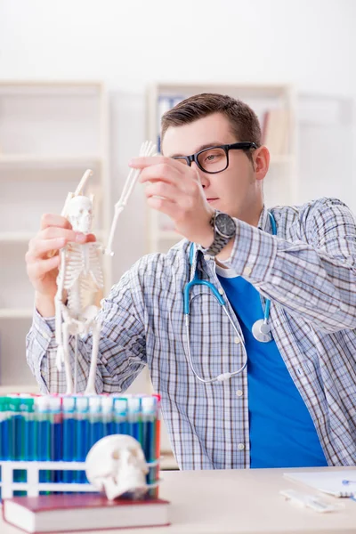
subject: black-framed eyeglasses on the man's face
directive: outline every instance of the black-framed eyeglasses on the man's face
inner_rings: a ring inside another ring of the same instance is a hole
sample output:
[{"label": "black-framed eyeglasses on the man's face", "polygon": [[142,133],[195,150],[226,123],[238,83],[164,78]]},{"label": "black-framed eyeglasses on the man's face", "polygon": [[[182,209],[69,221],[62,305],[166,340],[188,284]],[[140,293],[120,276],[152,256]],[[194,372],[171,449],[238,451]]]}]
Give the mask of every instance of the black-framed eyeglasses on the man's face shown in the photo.
[{"label": "black-framed eyeglasses on the man's face", "polygon": [[182,162],[183,165],[191,166],[195,161],[203,173],[216,174],[222,173],[229,166],[229,150],[251,150],[256,149],[255,142],[243,141],[232,144],[209,147],[208,149],[199,150],[191,156],[174,156],[174,159]]}]

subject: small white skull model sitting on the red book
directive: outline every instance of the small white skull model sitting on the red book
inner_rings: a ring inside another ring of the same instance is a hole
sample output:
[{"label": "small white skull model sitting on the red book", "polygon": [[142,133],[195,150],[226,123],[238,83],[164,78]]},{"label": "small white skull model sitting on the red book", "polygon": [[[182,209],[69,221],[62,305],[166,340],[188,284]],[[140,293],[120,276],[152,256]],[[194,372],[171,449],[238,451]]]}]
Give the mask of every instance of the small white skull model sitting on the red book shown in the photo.
[{"label": "small white skull model sitting on the red book", "polygon": [[112,434],[97,441],[86,457],[85,473],[94,488],[104,490],[109,500],[126,491],[140,498],[148,490],[149,468],[142,447],[125,434]]}]

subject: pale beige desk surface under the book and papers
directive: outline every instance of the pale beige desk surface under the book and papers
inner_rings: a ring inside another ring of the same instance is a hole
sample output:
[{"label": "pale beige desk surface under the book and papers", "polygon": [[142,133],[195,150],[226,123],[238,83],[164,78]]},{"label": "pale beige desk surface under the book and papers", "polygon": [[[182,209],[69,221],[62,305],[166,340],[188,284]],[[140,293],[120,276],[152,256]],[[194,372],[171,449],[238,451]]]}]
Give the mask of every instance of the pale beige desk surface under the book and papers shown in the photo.
[{"label": "pale beige desk surface under the book and papers", "polygon": [[[301,471],[343,469],[326,467]],[[347,469],[350,469],[348,467]],[[353,468],[356,472],[356,466]],[[343,502],[342,511],[319,514],[292,505],[279,490],[295,489],[310,494],[317,491],[283,477],[287,469],[235,471],[164,472],[160,495],[171,501],[170,527],[156,529],[97,530],[102,534],[355,534],[356,502]],[[291,471],[297,471],[291,469]],[[20,530],[0,519],[1,534]],[[82,534],[85,534],[82,532]],[[92,532],[93,534],[93,532]]]}]

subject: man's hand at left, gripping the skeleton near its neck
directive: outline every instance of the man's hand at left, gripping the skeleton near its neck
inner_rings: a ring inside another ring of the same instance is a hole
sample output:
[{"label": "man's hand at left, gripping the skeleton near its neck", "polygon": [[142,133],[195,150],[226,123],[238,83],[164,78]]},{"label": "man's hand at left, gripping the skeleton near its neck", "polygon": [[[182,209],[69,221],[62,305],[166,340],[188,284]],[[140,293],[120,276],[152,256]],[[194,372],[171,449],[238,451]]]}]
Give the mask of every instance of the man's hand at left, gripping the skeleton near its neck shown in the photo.
[{"label": "man's hand at left, gripping the skeleton near its neck", "polygon": [[69,241],[83,244],[95,241],[95,237],[93,234],[85,235],[73,231],[70,223],[61,215],[44,214],[41,230],[28,244],[28,278],[36,290],[36,308],[44,317],[54,315],[54,296],[57,292],[60,265],[59,251]]}]

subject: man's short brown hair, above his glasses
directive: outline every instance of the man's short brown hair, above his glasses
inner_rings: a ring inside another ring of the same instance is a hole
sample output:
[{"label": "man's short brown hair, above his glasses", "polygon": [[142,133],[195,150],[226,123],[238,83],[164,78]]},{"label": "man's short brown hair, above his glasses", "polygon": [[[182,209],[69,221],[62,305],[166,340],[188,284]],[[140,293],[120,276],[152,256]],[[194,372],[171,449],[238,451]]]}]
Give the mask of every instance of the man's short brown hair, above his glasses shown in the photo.
[{"label": "man's short brown hair, above his glasses", "polygon": [[261,146],[261,126],[255,111],[245,102],[219,93],[195,94],[166,111],[161,119],[161,142],[169,126],[187,125],[213,113],[228,118],[236,141],[251,141]]}]

